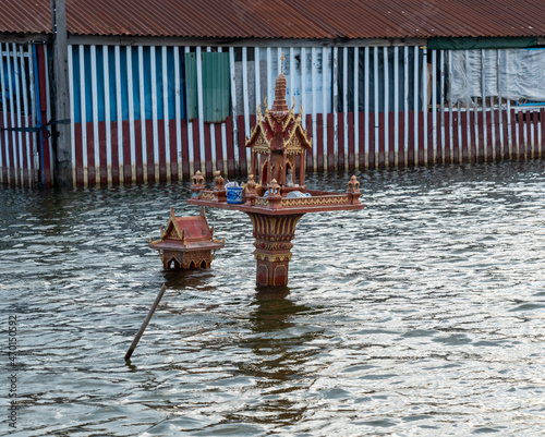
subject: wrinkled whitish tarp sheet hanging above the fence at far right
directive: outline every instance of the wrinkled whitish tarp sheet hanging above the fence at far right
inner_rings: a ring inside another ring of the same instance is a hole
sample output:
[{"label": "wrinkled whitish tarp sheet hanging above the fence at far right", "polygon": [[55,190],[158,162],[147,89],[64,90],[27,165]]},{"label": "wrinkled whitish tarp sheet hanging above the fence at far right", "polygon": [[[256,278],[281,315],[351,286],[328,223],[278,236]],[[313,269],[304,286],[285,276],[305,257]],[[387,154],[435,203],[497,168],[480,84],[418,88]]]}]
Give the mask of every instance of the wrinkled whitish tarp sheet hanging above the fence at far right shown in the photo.
[{"label": "wrinkled whitish tarp sheet hanging above the fence at far right", "polygon": [[484,49],[451,52],[452,102],[475,104],[475,98],[545,101],[545,50]]}]

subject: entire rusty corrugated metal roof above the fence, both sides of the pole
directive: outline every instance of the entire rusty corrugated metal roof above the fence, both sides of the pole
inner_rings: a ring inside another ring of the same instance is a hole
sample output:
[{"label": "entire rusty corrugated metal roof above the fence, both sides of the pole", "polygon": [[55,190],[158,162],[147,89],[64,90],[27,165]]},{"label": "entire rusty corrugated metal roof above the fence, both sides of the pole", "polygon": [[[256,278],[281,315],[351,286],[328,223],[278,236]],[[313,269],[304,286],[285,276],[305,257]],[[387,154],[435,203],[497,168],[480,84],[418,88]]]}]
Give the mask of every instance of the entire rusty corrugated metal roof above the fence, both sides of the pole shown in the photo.
[{"label": "entire rusty corrugated metal roof above the fence, both sides of the pole", "polygon": [[[544,0],[65,0],[72,35],[355,39],[545,36]],[[0,32],[50,33],[50,0],[0,0]]]}]

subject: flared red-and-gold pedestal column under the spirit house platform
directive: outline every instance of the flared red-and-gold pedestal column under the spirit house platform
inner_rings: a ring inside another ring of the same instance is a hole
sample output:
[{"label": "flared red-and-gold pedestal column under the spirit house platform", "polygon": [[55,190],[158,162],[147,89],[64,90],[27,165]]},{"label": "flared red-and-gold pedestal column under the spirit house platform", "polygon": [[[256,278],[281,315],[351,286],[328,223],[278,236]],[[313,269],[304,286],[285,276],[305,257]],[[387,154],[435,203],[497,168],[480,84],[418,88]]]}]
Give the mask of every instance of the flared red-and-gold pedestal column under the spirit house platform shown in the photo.
[{"label": "flared red-and-gold pedestal column under the spirit house platform", "polygon": [[254,256],[258,286],[276,287],[288,283],[291,240],[303,214],[269,216],[247,213],[254,227]]}]

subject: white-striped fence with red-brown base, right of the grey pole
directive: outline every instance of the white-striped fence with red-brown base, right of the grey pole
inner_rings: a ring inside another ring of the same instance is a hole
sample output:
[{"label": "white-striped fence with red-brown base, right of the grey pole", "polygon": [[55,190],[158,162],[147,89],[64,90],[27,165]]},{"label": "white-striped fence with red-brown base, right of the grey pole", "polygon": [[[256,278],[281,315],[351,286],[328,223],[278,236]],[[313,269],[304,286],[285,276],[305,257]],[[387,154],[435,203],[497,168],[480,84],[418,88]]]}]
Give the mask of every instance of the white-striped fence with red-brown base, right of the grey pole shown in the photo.
[{"label": "white-striped fence with red-brown base, right of the grey pole", "polygon": [[[189,179],[196,170],[245,175],[244,137],[257,106],[272,104],[282,69],[289,105],[313,137],[308,171],[542,157],[544,107],[487,86],[485,69],[502,53],[473,50],[473,65],[469,52],[416,46],[72,45],[74,182]],[[467,95],[455,86],[460,65],[480,85]],[[13,180],[8,168],[21,168],[21,159],[7,160],[16,139],[8,136],[4,182]]]}]

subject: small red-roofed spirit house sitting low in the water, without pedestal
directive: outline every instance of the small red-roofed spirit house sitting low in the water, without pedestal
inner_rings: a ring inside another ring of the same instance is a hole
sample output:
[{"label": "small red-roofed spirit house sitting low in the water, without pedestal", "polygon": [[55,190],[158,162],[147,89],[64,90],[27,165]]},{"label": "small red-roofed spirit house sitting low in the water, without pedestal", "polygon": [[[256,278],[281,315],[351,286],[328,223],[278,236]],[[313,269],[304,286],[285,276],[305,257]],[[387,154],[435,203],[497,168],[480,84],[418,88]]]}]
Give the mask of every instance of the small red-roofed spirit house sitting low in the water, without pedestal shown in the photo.
[{"label": "small red-roofed spirit house sitting low in the water, without pedestal", "polygon": [[174,208],[170,208],[167,230],[161,227],[161,239],[149,239],[149,247],[159,251],[165,270],[208,268],[216,251],[225,244],[225,238],[214,239],[214,227],[208,227],[204,208],[199,216],[193,217],[175,217]]}]

